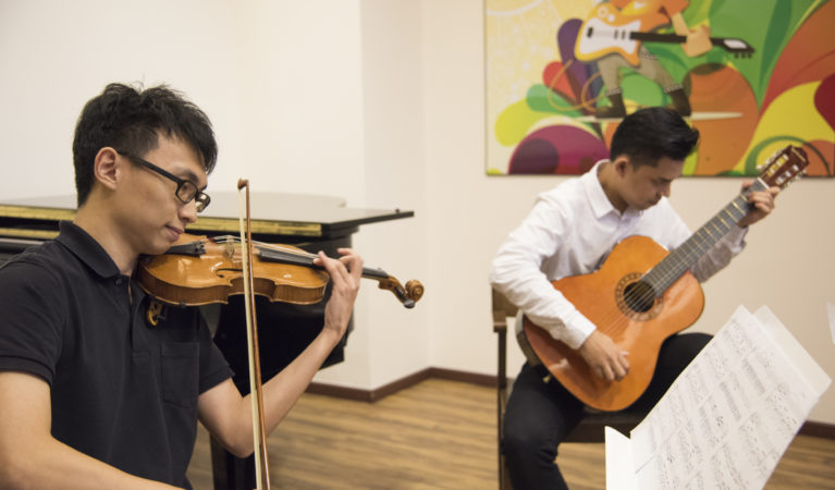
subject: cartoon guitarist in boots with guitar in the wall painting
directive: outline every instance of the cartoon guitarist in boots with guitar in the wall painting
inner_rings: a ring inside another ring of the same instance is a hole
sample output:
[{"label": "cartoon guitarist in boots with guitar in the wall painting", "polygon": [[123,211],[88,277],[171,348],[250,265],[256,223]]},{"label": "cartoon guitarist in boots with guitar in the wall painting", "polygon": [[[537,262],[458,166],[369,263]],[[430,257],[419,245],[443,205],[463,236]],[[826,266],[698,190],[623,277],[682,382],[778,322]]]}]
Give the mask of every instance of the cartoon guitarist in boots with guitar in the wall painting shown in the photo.
[{"label": "cartoon guitarist in boots with guitar in the wall painting", "polygon": [[[720,47],[737,56],[751,56],[753,48],[736,38],[710,37],[710,29],[702,25],[690,29],[681,11],[686,0],[610,0],[591,11],[577,33],[574,56],[585,63],[597,63],[605,85],[609,106],[598,106],[595,119],[624,118],[621,69],[629,69],[655,82],[671,98],[676,112],[684,117],[692,113],[690,100],[679,81],[673,78],[659,62],[644,41],[678,42],[688,57],[698,57]],[[653,30],[672,24],[676,34],[659,34]]]}]

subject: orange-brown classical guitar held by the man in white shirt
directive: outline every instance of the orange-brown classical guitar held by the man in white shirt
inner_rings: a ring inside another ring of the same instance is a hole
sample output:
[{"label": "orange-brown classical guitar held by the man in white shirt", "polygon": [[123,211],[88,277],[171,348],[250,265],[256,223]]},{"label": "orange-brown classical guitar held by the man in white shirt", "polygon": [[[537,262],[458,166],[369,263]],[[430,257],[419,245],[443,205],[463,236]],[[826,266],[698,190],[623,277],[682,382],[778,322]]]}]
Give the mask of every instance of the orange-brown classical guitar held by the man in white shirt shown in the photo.
[{"label": "orange-brown classical guitar held by the man in white shirt", "polygon": [[808,164],[801,148],[788,146],[769,159],[746,193],[672,253],[646,236],[630,236],[615,245],[595,272],[552,283],[598,330],[629,353],[629,373],[624,379],[606,381],[595,376],[577,351],[525,318],[517,340],[528,362],[543,365],[588,406],[601,411],[629,406],[649,385],[662,342],[701,315],[704,295],[689,269],[748,212],[748,193],[783,188]]}]

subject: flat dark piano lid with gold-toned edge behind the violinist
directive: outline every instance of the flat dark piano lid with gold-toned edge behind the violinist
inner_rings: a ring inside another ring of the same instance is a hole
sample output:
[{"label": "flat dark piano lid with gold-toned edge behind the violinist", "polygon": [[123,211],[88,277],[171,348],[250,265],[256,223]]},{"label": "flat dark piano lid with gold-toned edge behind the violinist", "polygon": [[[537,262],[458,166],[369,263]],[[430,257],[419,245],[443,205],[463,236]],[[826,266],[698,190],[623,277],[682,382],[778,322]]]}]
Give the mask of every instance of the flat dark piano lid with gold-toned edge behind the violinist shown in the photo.
[{"label": "flat dark piano lid with gold-toned edge behind the violinist", "polygon": [[[211,204],[188,226],[192,234],[236,234],[238,200],[235,192],[211,193]],[[251,193],[253,233],[257,235],[331,240],[356,232],[360,224],[415,216],[400,209],[345,207],[333,196],[285,193]],[[49,240],[58,235],[58,222],[75,217],[75,196],[45,196],[0,201],[0,236]]]}]

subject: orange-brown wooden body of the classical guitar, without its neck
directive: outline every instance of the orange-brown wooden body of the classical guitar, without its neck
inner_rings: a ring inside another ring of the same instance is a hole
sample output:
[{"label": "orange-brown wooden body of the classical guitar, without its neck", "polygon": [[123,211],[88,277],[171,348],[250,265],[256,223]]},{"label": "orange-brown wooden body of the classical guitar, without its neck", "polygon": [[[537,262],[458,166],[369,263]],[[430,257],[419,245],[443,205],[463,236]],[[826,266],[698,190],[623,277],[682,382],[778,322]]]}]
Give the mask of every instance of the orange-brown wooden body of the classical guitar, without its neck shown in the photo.
[{"label": "orange-brown wooden body of the classical guitar, without its neck", "polygon": [[646,271],[667,256],[667,250],[646,236],[630,236],[617,244],[603,267],[590,274],[574,275],[553,285],[598,330],[629,353],[629,373],[606,381],[591,372],[582,357],[548,331],[525,318],[519,344],[528,360],[542,364],[586,405],[619,411],[633,404],[652,379],[662,342],[691,326],[704,307],[704,294],[687,272],[659,297],[630,304]]}]

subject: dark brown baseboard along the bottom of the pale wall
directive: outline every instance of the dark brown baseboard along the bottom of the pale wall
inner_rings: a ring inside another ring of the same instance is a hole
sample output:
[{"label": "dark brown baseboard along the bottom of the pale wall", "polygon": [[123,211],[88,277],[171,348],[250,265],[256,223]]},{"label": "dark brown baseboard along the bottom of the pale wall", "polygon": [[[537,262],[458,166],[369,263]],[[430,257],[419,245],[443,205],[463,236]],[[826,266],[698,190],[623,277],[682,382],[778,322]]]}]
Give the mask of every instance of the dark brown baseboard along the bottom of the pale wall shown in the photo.
[{"label": "dark brown baseboard along the bottom of the pale wall", "polygon": [[[409,388],[420,381],[429,378],[449,379],[451,381],[463,381],[471,384],[484,387],[495,387],[495,376],[480,375],[478,372],[459,371],[456,369],[444,369],[430,367],[392,381],[389,384],[376,390],[360,390],[358,388],[345,388],[327,383],[310,383],[307,388],[308,393],[322,394],[336,399],[356,400],[360,402],[373,403],[394,394],[405,388]],[[799,433],[823,439],[835,439],[835,424],[824,424],[816,421],[807,421],[800,427]]]}]

